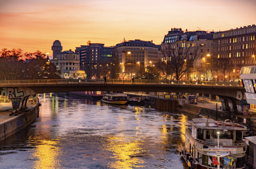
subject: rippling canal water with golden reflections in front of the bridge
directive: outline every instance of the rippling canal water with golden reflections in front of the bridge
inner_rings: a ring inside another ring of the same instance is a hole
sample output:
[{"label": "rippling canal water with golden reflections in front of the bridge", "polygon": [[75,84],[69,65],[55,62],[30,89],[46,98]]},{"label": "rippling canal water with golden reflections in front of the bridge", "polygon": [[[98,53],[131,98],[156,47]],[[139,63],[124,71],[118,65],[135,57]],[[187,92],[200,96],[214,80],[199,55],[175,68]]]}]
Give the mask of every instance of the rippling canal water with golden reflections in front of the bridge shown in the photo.
[{"label": "rippling canal water with golden reflections in front of the bridge", "polygon": [[186,115],[54,93],[39,99],[39,117],[0,143],[0,168],[188,168]]}]

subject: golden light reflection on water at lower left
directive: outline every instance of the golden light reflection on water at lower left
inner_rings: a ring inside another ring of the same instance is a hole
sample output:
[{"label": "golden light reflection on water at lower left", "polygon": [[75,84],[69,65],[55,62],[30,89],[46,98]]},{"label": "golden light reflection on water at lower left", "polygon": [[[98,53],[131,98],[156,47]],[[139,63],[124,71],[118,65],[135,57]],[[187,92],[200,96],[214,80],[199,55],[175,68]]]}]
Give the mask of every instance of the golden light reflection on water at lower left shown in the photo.
[{"label": "golden light reflection on water at lower left", "polygon": [[63,168],[61,148],[57,140],[40,140],[41,144],[36,145],[32,158],[36,159],[33,164],[35,169]]}]

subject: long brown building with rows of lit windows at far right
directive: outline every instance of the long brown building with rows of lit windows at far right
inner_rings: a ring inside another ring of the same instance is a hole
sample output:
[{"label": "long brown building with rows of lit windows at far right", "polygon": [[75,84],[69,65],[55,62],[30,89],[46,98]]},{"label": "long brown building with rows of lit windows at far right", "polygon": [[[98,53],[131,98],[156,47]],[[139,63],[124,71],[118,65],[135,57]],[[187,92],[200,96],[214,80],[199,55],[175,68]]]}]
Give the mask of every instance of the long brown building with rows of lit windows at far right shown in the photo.
[{"label": "long brown building with rows of lit windows at far right", "polygon": [[[240,79],[241,67],[254,65],[256,30],[255,25],[244,26],[228,31],[214,33],[214,57],[227,58],[230,67],[233,68],[231,74],[227,73],[229,80]],[[218,80],[223,80],[224,75]]]}]

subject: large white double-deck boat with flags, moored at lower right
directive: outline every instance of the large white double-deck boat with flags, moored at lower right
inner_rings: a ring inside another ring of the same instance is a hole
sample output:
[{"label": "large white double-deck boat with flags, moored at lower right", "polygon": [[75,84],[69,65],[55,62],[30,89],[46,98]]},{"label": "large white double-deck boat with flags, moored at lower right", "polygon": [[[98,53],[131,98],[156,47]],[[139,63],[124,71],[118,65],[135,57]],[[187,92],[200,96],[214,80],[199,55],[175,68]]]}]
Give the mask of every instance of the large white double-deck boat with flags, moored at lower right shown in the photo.
[{"label": "large white double-deck boat with flags, moored at lower right", "polygon": [[[185,148],[180,154],[189,169],[222,168],[224,157],[236,159],[235,168],[242,169],[247,149],[247,143],[243,140],[245,131],[247,127],[234,122],[215,121],[209,118],[192,119],[188,121]],[[218,161],[219,165],[211,163],[213,161]],[[234,164],[228,168],[233,166]]]}]

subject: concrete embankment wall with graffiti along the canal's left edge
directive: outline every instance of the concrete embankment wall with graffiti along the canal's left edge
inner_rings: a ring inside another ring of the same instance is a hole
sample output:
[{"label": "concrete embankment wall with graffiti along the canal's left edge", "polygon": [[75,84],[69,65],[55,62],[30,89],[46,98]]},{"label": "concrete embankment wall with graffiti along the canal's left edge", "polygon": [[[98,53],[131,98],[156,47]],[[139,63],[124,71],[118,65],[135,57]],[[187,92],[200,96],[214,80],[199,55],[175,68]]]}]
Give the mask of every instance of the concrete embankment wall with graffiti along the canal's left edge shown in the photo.
[{"label": "concrete embankment wall with graffiti along the canal's left edge", "polygon": [[10,117],[0,122],[0,142],[22,130],[30,124],[39,114],[39,105],[33,107],[17,116]]}]

